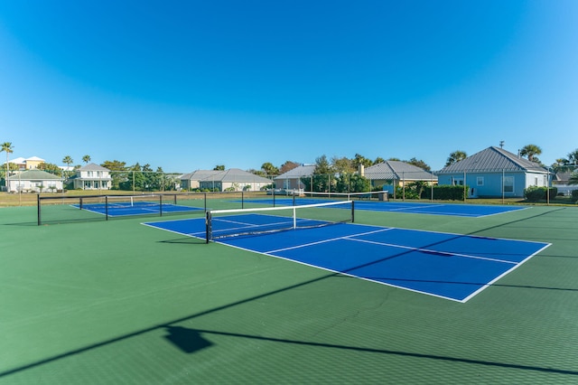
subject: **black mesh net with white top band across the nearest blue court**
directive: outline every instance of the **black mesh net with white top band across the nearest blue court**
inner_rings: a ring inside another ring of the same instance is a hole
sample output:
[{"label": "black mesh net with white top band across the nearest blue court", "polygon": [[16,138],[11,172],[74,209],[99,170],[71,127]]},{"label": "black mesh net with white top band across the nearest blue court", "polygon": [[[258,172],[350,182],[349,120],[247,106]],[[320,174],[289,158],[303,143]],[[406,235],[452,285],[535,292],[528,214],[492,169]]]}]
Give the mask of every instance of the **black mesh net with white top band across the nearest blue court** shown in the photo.
[{"label": "black mesh net with white top band across the nearest blue court", "polygon": [[284,230],[310,229],[353,222],[353,201],[324,202],[289,207],[207,211],[207,243],[228,237],[258,235]]}]

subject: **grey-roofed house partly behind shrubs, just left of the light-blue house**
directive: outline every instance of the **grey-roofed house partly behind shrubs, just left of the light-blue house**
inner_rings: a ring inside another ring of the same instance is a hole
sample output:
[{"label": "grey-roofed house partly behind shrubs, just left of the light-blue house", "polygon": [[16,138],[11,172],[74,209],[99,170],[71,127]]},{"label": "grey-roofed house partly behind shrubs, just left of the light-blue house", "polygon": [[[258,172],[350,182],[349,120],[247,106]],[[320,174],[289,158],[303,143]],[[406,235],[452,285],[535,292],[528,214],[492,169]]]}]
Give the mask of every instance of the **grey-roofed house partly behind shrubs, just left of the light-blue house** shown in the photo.
[{"label": "grey-roofed house partly behind shrubs, just left of the light-blue house", "polygon": [[386,161],[373,164],[367,168],[361,167],[359,174],[368,178],[372,187],[384,186],[389,193],[394,192],[394,186],[404,186],[406,183],[425,182],[437,183],[437,176],[414,164],[400,161]]}]

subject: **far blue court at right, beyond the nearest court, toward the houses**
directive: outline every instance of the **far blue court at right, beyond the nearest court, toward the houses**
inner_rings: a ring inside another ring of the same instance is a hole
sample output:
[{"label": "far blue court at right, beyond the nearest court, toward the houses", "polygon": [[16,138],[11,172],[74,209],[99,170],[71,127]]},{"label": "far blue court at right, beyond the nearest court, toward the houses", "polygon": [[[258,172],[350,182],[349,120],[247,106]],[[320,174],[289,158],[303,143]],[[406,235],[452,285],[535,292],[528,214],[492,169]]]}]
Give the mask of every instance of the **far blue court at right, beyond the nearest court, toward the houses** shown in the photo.
[{"label": "far blue court at right, beyond the nearest court, toward the houses", "polygon": [[[245,202],[273,205],[272,198],[246,200]],[[331,200],[312,198],[275,198],[275,205],[291,206],[315,204],[322,202],[335,202]],[[461,203],[431,203],[431,202],[378,202],[378,201],[355,201],[356,210],[364,211],[390,211],[406,212],[413,214],[430,215],[451,215],[456,217],[481,218],[489,215],[497,215],[510,211],[527,209],[526,206],[501,206],[483,204],[461,204]]]}]

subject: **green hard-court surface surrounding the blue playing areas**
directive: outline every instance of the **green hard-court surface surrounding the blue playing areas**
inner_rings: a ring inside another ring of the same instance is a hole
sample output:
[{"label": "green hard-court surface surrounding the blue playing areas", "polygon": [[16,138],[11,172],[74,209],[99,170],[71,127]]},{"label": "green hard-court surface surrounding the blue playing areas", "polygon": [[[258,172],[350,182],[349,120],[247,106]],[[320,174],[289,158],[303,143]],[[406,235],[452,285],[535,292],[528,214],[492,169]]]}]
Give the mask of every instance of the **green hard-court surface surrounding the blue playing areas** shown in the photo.
[{"label": "green hard-court surface surrounding the blue playing areas", "polygon": [[578,383],[578,208],[356,213],[552,244],[467,303],[143,221],[0,209],[0,384]]}]

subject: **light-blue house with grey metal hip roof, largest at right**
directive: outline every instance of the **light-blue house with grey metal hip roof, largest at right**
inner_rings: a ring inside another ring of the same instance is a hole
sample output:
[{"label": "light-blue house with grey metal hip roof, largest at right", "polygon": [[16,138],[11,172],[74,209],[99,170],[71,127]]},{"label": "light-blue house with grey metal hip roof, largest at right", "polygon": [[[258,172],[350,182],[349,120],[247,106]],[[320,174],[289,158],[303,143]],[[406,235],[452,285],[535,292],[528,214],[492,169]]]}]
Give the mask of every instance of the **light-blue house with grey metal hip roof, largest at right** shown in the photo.
[{"label": "light-blue house with grey metal hip roof, largest at right", "polygon": [[551,175],[539,164],[491,146],[444,167],[437,176],[439,184],[467,185],[471,198],[522,198],[530,186],[547,186]]}]

